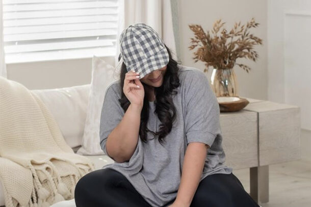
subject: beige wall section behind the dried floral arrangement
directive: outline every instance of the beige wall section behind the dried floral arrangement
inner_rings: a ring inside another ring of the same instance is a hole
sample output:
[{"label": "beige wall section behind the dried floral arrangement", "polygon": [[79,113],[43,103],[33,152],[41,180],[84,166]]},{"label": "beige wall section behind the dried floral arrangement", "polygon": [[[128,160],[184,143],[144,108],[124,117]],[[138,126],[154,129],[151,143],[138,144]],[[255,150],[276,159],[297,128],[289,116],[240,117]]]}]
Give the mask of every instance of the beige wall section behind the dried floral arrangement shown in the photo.
[{"label": "beige wall section behind the dried floral arrangement", "polygon": [[[247,73],[242,68],[235,67],[234,70],[238,81],[238,95],[255,99],[267,100],[268,77],[267,77],[267,0],[192,0],[178,1],[179,4],[179,30],[181,59],[184,65],[204,69],[204,63],[194,63],[192,60],[194,50],[189,50],[190,38],[194,37],[188,24],[200,24],[204,31],[211,29],[215,20],[221,18],[226,22],[227,31],[234,26],[235,22],[241,21],[245,24],[252,17],[260,23],[257,28],[251,28],[250,32],[263,39],[263,45],[257,45],[254,49],[259,57],[256,62],[238,59],[237,63],[243,63],[252,68]],[[212,70],[206,74],[211,77]]]}]

